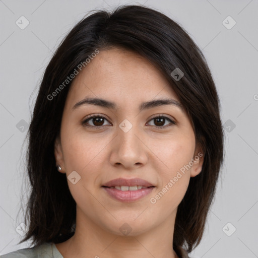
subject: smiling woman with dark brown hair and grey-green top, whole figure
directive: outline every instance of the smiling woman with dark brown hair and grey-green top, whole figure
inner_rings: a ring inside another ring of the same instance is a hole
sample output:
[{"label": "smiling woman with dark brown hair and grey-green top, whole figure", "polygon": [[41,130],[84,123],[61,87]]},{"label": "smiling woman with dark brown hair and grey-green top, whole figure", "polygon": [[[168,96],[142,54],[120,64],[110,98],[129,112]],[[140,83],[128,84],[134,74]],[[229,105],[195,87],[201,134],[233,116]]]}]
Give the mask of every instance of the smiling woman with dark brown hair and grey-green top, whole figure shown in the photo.
[{"label": "smiling woman with dark brown hair and grey-green top, whole figure", "polygon": [[3,258],[188,257],[223,162],[201,50],[147,7],[83,19],[45,70],[27,155],[35,245]]}]

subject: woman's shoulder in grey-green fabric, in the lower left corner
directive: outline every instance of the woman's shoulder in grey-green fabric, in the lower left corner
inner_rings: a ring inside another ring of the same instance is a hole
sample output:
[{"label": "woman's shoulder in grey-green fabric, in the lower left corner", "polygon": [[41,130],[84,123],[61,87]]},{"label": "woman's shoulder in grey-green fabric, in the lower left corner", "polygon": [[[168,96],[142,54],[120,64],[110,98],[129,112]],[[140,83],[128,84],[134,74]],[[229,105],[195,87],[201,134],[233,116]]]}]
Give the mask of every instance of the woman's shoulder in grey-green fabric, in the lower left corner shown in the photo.
[{"label": "woman's shoulder in grey-green fabric, in the lower left corner", "polygon": [[0,255],[0,258],[54,258],[52,243],[45,242],[30,248],[19,249],[13,252]]}]

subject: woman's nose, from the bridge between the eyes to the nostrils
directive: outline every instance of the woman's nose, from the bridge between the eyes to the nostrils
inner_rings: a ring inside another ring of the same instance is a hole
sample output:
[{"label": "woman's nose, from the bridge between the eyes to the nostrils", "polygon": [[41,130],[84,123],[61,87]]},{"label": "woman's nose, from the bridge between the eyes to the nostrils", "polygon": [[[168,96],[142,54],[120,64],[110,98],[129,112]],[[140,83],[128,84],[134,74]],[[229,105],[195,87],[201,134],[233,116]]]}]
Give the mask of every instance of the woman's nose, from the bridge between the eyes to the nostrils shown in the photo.
[{"label": "woman's nose, from the bridge between the eyes to the nostrils", "polygon": [[143,133],[127,119],[119,125],[111,148],[110,163],[126,169],[144,166],[148,161],[148,148]]}]

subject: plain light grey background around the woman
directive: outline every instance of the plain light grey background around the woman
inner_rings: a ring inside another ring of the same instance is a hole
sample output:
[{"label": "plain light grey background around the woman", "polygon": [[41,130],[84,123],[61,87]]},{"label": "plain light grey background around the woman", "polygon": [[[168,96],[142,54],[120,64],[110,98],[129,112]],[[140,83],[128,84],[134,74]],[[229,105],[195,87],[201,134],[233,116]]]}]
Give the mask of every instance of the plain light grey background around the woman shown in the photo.
[{"label": "plain light grey background around the woman", "polygon": [[[41,76],[53,51],[88,11],[136,3],[160,10],[185,28],[203,50],[221,99],[225,165],[204,237],[190,256],[258,257],[257,0],[0,0],[0,254],[29,244],[17,245],[24,229],[20,202],[26,202],[28,192],[24,175],[27,143],[22,146]],[[23,30],[16,24],[25,25],[21,16],[29,21]],[[233,20],[225,20],[228,16],[236,22],[232,28]]]}]

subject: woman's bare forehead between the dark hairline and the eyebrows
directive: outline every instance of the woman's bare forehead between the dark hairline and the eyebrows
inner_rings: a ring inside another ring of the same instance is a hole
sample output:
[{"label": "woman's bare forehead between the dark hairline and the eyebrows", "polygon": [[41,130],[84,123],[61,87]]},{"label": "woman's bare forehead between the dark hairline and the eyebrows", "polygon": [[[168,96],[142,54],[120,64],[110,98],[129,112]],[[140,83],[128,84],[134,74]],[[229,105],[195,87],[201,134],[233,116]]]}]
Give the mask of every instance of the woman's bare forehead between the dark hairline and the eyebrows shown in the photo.
[{"label": "woman's bare forehead between the dark hairline and the eyebrows", "polygon": [[101,50],[75,77],[67,102],[85,96],[105,98],[118,106],[158,97],[178,98],[162,73],[141,55],[120,48]]}]

